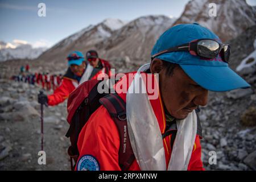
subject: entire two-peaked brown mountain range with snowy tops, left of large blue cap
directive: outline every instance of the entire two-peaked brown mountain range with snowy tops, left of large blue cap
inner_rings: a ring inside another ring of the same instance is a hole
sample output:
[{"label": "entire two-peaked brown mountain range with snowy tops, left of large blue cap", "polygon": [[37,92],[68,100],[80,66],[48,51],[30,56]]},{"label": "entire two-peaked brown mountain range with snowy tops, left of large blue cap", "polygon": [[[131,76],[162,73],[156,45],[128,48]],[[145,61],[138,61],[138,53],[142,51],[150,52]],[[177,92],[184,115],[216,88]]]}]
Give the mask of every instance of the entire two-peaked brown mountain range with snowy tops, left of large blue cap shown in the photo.
[{"label": "entire two-peaked brown mountain range with snowy tops, left of large blue cap", "polygon": [[48,49],[38,60],[51,60],[65,64],[68,53],[77,50],[85,53],[89,49],[97,49],[100,56],[112,59],[113,57],[129,56],[132,60],[143,57],[150,58],[150,51],[156,39],[175,19],[167,16],[143,16],[130,23],[118,19],[106,19],[96,26],[89,26],[63,39],[51,49]]}]

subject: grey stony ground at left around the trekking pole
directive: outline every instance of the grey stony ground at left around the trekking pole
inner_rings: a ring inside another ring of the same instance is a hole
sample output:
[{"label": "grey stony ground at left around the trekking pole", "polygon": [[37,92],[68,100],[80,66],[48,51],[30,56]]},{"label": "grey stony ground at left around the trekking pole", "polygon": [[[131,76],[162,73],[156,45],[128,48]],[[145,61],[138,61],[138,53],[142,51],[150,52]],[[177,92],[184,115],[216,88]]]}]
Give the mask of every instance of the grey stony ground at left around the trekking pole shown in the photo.
[{"label": "grey stony ground at left around the trekking pole", "polygon": [[0,80],[0,85],[0,170],[69,170],[66,104],[44,107],[47,164],[39,165],[40,88],[10,80]]}]

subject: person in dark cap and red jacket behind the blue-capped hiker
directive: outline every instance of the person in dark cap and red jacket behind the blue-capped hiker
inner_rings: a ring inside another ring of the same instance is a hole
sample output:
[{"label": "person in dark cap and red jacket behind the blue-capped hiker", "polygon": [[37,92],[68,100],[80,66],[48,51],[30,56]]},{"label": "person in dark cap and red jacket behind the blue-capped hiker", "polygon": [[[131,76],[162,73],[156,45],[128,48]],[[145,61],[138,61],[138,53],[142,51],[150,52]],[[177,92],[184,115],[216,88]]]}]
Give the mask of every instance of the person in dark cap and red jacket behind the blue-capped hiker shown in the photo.
[{"label": "person in dark cap and red jacket behind the blue-capped hiker", "polygon": [[94,68],[92,74],[90,75],[90,80],[97,79],[97,77],[101,73],[105,73],[108,76],[111,75],[111,66],[109,64],[109,61],[100,59],[98,57],[97,51],[90,50],[86,52],[86,59],[88,60],[89,64],[92,65],[92,67]]}]

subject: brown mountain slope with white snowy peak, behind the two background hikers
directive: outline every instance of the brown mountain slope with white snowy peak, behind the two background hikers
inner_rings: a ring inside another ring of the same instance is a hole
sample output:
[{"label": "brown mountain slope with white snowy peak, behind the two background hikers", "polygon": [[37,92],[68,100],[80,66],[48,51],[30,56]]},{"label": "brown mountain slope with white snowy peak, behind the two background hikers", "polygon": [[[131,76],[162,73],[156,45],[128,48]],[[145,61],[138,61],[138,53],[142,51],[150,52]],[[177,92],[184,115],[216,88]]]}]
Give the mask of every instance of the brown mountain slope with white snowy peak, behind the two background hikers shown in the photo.
[{"label": "brown mountain slope with white snowy peak, behind the two background hikers", "polygon": [[55,61],[65,62],[65,58],[69,52],[77,50],[85,53],[88,49],[94,48],[98,42],[112,36],[115,30],[124,25],[125,22],[122,22],[122,20],[119,19],[105,19],[95,26],[90,25],[76,34],[61,40],[55,46],[39,56],[38,59],[51,60],[52,64],[54,64]]}]

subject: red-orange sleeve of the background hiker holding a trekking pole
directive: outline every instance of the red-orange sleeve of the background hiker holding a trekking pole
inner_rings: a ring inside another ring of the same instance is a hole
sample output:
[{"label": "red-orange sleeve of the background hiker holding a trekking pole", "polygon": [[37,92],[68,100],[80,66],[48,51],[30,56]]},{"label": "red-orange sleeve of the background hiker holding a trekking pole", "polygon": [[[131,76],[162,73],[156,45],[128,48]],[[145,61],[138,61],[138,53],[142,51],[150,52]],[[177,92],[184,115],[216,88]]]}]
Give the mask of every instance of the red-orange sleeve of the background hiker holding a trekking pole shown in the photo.
[{"label": "red-orange sleeve of the background hiker holding a trekking pole", "polygon": [[63,78],[60,86],[53,92],[53,94],[48,96],[48,105],[54,106],[64,102],[73,90],[75,90],[75,86],[72,84],[72,81]]}]

